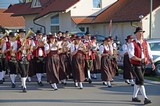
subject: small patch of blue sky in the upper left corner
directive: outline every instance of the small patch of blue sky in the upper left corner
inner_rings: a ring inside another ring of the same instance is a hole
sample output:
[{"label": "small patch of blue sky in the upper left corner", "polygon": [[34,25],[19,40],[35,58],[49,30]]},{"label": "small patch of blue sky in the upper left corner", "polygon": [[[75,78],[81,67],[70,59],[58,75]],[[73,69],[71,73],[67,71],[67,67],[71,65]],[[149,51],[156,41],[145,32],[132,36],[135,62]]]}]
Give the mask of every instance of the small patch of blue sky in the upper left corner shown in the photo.
[{"label": "small patch of blue sky in the upper left corner", "polygon": [[7,8],[10,4],[19,3],[19,0],[0,0],[0,8]]}]

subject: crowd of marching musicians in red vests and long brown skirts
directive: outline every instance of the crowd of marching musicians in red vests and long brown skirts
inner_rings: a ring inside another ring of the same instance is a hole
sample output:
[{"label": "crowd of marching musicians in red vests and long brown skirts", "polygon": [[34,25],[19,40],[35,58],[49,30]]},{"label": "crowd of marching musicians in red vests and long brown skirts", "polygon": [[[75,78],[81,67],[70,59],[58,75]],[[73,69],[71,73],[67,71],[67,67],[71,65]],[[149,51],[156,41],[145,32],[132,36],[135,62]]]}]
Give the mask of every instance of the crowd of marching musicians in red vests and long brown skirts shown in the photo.
[{"label": "crowd of marching musicians in red vests and long brown skirts", "polygon": [[20,75],[23,92],[26,92],[26,80],[31,81],[34,75],[38,85],[43,86],[44,73],[54,90],[58,89],[58,83],[65,85],[69,78],[73,78],[76,87],[83,89],[83,81],[92,83],[97,72],[101,72],[103,84],[111,87],[111,81],[118,74],[112,37],[105,38],[103,44],[98,45],[96,37],[88,32],[82,37],[60,31],[43,35],[38,30],[28,35],[24,29],[19,29],[17,33],[10,32],[1,38],[1,84],[6,71],[12,88],[16,87],[17,74]]}]

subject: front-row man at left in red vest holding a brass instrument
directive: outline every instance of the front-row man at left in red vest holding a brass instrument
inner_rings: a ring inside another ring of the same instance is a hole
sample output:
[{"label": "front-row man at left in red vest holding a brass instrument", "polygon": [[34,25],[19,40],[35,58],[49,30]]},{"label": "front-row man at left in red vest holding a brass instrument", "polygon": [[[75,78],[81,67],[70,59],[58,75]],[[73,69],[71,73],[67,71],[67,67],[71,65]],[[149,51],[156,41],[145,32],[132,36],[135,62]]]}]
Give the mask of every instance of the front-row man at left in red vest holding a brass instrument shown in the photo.
[{"label": "front-row man at left in red vest holding a brass instrument", "polygon": [[27,40],[28,35],[25,35],[24,29],[19,29],[19,39],[14,43],[14,51],[16,53],[16,60],[18,63],[19,74],[21,75],[22,90],[27,92],[26,80],[29,71],[29,60],[30,60],[30,47],[31,42]]}]

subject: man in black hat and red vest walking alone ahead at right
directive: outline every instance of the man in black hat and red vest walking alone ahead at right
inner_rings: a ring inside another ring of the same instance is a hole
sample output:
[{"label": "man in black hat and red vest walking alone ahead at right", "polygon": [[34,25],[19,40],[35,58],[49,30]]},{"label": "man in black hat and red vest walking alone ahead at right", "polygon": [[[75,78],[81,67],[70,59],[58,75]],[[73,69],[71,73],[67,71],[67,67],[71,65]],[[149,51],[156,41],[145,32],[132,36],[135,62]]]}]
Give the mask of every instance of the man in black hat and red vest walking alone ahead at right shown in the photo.
[{"label": "man in black hat and red vest walking alone ahead at right", "polygon": [[129,44],[128,53],[136,77],[132,101],[141,102],[141,100],[139,100],[137,97],[137,94],[140,90],[142,96],[144,97],[144,104],[148,104],[151,103],[151,101],[146,96],[144,87],[145,66],[150,61],[154,70],[155,65],[153,63],[153,57],[151,54],[150,46],[143,37],[144,32],[145,31],[143,31],[141,27],[136,28],[134,32],[136,39]]}]

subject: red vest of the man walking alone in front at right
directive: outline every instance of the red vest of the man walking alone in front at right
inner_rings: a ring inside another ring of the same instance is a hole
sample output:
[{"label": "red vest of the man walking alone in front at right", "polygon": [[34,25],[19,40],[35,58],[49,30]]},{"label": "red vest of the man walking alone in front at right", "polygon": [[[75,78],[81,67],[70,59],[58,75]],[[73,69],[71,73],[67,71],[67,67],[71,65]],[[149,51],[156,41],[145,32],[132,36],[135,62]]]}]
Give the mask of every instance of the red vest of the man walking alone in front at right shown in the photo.
[{"label": "red vest of the man walking alone in front at right", "polygon": [[[142,52],[144,52],[144,57],[147,58],[147,61],[145,62],[145,64],[148,64],[148,60],[149,60],[149,55],[148,55],[148,47],[147,47],[147,41],[144,40],[142,43],[142,47],[143,47],[143,51],[141,49],[141,46],[139,43],[137,43],[135,40],[133,41],[133,45],[134,45],[134,55],[138,58],[141,58]],[[130,59],[131,64],[134,65],[141,65],[140,61],[135,61]]]}]

